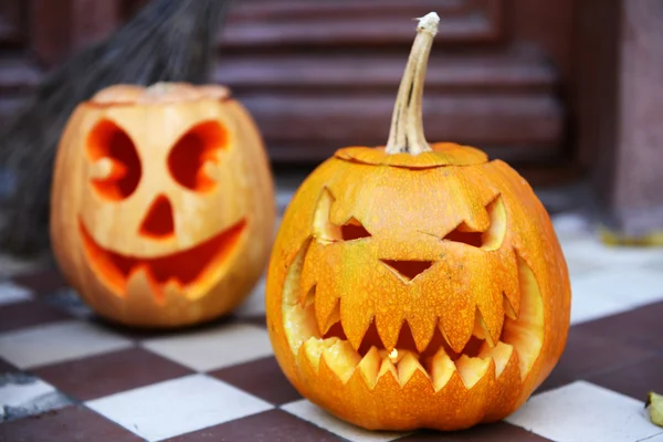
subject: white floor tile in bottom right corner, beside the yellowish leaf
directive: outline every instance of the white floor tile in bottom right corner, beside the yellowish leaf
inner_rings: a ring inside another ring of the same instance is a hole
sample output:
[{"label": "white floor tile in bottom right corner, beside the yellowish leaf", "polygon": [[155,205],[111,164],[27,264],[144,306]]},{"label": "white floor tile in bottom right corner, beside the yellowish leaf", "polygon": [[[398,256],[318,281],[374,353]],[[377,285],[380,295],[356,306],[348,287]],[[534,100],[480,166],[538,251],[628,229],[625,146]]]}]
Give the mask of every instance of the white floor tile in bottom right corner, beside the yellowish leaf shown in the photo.
[{"label": "white floor tile in bottom right corner, beside the yellowish leaf", "polygon": [[662,432],[643,402],[585,381],[532,397],[506,421],[557,442],[635,442]]}]

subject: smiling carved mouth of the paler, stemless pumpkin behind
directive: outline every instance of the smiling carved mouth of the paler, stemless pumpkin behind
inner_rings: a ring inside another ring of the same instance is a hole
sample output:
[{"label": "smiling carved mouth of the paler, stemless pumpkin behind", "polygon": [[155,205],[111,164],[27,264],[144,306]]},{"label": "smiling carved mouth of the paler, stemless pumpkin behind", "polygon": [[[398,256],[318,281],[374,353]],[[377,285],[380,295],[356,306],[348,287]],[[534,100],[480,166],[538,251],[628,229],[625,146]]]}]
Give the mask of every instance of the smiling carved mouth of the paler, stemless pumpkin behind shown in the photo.
[{"label": "smiling carved mouth of the paler, stemless pumpkin behind", "polygon": [[83,221],[78,220],[87,259],[104,283],[116,295],[124,296],[131,276],[145,272],[157,298],[164,296],[167,285],[172,284],[180,291],[191,291],[213,277],[215,271],[236,249],[245,227],[246,220],[242,219],[191,249],[159,257],[138,257],[104,249],[92,238]]}]

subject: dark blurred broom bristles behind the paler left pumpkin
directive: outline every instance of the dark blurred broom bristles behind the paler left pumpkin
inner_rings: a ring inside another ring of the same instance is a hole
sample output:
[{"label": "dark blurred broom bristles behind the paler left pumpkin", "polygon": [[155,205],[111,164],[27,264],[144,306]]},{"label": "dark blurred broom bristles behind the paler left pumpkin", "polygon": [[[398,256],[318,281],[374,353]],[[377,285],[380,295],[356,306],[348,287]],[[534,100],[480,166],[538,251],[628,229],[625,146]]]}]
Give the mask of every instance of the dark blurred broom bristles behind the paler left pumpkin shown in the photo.
[{"label": "dark blurred broom bristles behind the paler left pumpkin", "polygon": [[152,0],[105,41],[50,73],[25,108],[0,129],[0,170],[15,183],[3,203],[0,248],[25,255],[49,249],[55,149],[71,113],[118,83],[204,83],[230,0]]}]

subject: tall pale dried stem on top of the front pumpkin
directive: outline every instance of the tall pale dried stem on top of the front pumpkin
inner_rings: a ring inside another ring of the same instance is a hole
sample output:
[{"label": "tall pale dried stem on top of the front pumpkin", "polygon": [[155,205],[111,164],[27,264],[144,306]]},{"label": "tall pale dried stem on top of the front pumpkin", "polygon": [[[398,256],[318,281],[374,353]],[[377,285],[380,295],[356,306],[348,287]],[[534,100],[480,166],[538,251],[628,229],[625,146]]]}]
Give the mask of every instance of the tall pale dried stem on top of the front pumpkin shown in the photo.
[{"label": "tall pale dried stem on top of the front pumpkin", "polygon": [[433,38],[438,33],[440,17],[430,12],[418,19],[417,36],[412,43],[408,65],[401,80],[387,141],[387,154],[419,155],[431,151],[423,134],[421,119],[421,97],[423,82]]}]

